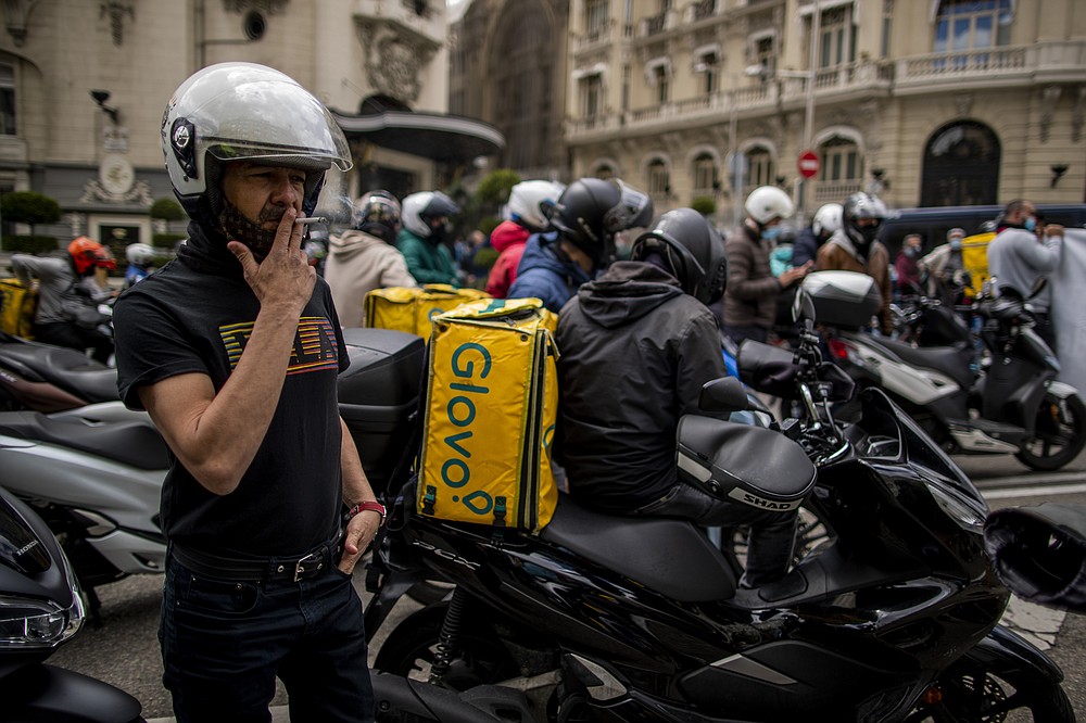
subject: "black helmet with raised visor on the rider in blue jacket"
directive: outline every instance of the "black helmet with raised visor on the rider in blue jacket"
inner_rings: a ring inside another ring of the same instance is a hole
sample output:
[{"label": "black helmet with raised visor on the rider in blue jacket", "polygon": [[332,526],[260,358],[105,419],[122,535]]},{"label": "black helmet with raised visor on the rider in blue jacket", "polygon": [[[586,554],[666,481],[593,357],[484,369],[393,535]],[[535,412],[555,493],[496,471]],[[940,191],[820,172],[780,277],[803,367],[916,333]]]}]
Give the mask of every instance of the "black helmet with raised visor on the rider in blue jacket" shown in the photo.
[{"label": "black helmet with raised visor on the rider in blue jacket", "polygon": [[570,183],[550,213],[551,225],[563,238],[595,262],[611,255],[619,231],[647,226],[653,201],[618,179],[581,178]]}]

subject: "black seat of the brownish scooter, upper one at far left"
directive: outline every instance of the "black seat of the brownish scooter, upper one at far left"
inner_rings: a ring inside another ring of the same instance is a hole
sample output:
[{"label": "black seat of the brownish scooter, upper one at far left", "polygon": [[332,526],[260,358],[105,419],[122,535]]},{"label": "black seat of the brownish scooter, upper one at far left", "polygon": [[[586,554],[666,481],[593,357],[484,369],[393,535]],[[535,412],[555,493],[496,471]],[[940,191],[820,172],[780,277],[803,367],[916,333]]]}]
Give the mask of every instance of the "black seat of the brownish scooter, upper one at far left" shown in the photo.
[{"label": "black seat of the brownish scooter, upper one at far left", "polygon": [[29,381],[54,384],[89,404],[121,398],[117,370],[74,348],[34,342],[0,344],[0,359]]}]

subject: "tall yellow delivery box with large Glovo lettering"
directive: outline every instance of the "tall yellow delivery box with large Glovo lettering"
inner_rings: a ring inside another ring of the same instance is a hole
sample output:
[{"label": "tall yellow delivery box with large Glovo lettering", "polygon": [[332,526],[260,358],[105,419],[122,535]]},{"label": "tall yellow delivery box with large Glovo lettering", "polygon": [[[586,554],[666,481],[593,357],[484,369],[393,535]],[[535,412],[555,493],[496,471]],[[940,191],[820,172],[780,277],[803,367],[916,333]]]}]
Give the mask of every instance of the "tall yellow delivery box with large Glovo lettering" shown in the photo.
[{"label": "tall yellow delivery box with large Glovo lettering", "polygon": [[538,299],[479,300],[433,318],[421,515],[531,533],[551,521],[556,324]]}]

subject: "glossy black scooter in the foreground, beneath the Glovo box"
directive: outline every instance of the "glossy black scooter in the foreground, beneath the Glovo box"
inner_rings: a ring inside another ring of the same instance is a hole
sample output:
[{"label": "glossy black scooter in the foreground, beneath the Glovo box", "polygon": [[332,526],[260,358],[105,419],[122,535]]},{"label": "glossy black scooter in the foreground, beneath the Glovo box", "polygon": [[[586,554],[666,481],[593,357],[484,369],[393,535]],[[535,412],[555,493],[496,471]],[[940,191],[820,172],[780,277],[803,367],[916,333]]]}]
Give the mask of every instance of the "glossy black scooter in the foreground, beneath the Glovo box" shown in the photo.
[{"label": "glossy black scooter in the foreground, beneath the Glovo box", "polygon": [[[826,544],[744,591],[685,521],[560,496],[540,535],[521,535],[416,515],[408,483],[368,571],[367,631],[419,581],[455,588],[389,633],[375,680],[459,692],[455,713],[422,715],[447,721],[987,721],[1013,709],[1073,721],[1060,670],[997,624],[1009,593],[984,551],[981,495],[880,391],[861,393],[856,424],[833,419],[829,403],[850,384],[821,363],[804,308],[795,357],[752,346],[740,359],[748,380],[791,385],[800,418],[776,432],[686,417],[678,456],[710,493],[809,507]],[[702,408],[745,398],[718,380]],[[378,718],[395,705],[382,690]]]}]

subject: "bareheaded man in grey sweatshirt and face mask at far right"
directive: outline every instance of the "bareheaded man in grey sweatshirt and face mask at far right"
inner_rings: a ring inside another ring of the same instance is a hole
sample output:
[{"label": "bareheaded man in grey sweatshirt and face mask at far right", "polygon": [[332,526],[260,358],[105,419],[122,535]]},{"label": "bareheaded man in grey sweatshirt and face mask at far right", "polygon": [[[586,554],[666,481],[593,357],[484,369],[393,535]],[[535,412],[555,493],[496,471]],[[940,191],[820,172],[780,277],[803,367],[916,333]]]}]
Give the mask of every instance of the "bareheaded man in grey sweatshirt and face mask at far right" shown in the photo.
[{"label": "bareheaded man in grey sweatshirt and face mask at far right", "polygon": [[1046,224],[1038,227],[1037,210],[1032,201],[1016,199],[1003,210],[1003,228],[988,244],[988,272],[996,278],[1000,294],[1030,299],[1036,331],[1056,348],[1049,322],[1052,290],[1046,284],[1034,295],[1036,284],[1060,264],[1063,227]]}]

